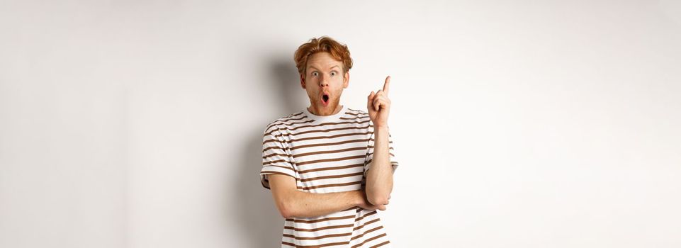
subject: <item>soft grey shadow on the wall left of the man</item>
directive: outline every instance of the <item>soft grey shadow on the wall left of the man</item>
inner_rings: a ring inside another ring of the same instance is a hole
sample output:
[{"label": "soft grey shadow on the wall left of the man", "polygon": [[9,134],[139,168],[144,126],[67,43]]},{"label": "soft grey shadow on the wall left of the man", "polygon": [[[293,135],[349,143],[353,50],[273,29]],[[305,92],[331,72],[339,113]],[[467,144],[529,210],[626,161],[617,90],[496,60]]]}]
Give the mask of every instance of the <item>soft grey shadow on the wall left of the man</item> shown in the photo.
[{"label": "soft grey shadow on the wall left of the man", "polygon": [[[271,72],[271,80],[266,82],[264,89],[271,89],[268,93],[276,99],[276,103],[281,103],[273,108],[285,111],[284,114],[272,116],[269,121],[304,108],[299,99],[303,89],[300,84],[296,84],[298,71],[292,57],[271,57],[263,64],[268,64]],[[227,203],[232,205],[233,208],[230,209],[237,212],[226,213],[226,221],[241,228],[243,242],[249,242],[249,247],[281,247],[284,219],[279,215],[271,191],[264,188],[259,179],[262,167],[262,132],[267,124],[269,122],[255,126],[244,125],[247,128],[244,132],[249,135],[247,140],[238,140],[240,144],[244,144],[242,152],[237,153],[242,157],[230,158],[234,162],[227,165],[238,169],[238,179],[228,185],[230,190],[235,191],[232,196],[238,198]]]}]

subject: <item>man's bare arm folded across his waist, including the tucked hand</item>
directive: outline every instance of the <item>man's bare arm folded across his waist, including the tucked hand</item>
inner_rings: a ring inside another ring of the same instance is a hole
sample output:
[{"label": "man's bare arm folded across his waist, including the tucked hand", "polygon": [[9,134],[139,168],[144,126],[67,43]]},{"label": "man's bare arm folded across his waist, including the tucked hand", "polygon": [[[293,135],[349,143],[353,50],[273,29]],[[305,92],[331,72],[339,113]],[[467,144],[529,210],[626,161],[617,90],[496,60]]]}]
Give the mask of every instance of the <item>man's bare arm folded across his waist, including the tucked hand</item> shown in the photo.
[{"label": "man's bare arm folded across his waist, including the tucked hand", "polygon": [[296,179],[291,176],[269,175],[269,185],[276,207],[283,218],[315,218],[359,206],[385,210],[385,206],[368,205],[364,191],[337,193],[309,193],[298,191]]}]

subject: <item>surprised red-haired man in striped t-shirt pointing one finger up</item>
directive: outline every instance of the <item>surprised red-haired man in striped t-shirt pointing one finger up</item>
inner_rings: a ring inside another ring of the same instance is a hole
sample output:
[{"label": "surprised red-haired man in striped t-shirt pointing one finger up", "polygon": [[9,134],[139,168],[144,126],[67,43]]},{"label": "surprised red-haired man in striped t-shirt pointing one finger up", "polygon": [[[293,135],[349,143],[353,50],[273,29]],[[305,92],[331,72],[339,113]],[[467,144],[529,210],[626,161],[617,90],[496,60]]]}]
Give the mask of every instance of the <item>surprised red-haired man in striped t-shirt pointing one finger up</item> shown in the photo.
[{"label": "surprised red-haired man in striped t-shirt pointing one finger up", "polygon": [[310,106],[267,125],[261,184],[284,222],[282,247],[388,247],[385,210],[398,167],[388,133],[390,77],[367,112],[340,105],[352,60],[347,45],[313,38],[294,55]]}]

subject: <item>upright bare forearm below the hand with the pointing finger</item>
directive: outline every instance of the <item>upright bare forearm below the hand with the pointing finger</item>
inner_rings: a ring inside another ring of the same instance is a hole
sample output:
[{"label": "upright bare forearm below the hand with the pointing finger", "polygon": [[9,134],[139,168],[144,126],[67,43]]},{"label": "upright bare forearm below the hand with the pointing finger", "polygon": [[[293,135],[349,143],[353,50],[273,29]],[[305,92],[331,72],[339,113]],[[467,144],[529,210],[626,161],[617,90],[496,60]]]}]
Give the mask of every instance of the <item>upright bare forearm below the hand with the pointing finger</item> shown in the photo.
[{"label": "upright bare forearm below the hand with the pointing finger", "polygon": [[366,198],[373,205],[388,203],[393,191],[393,166],[390,164],[388,128],[373,130],[373,159],[371,169],[366,173]]}]

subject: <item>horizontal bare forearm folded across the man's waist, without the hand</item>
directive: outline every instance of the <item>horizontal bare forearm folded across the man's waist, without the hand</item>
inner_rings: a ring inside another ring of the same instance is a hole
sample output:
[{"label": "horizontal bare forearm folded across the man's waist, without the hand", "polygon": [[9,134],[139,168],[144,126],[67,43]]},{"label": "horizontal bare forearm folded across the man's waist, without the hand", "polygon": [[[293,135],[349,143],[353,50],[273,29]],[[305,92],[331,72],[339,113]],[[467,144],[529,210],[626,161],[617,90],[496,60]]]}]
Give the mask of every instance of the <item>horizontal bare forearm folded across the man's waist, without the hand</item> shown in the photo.
[{"label": "horizontal bare forearm folded across the man's waist, without the hand", "polygon": [[347,210],[364,201],[364,192],[309,193],[296,191],[288,199],[288,217],[314,218]]}]

